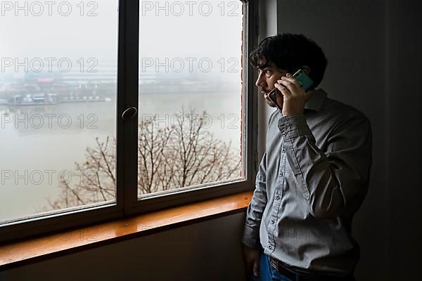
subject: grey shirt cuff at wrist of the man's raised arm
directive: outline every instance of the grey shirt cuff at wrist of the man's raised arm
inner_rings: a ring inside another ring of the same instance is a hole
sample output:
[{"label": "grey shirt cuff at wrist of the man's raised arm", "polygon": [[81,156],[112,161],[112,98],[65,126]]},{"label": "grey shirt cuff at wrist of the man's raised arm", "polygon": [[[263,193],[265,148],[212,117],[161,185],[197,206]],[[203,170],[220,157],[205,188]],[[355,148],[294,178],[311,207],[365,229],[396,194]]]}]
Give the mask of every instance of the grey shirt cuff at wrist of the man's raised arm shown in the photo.
[{"label": "grey shirt cuff at wrist of the man's raised arm", "polygon": [[285,138],[313,136],[304,115],[287,115],[279,119],[279,130]]}]

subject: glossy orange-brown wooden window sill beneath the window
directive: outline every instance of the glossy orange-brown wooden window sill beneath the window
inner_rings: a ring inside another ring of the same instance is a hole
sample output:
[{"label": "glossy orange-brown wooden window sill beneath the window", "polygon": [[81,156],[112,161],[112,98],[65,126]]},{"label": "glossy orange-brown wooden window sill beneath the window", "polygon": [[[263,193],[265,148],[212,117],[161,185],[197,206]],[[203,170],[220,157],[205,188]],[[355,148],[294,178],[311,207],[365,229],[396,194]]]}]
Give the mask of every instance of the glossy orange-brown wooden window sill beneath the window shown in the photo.
[{"label": "glossy orange-brown wooden window sill beneath the window", "polygon": [[0,270],[243,211],[252,192],[0,245]]}]

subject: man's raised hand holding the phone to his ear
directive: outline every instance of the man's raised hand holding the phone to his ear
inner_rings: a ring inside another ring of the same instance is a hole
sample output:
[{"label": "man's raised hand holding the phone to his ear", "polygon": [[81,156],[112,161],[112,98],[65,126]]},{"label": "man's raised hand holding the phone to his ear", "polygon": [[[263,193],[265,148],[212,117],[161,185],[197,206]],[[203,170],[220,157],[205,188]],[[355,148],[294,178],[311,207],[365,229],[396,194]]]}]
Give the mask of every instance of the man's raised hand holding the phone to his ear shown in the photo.
[{"label": "man's raised hand holding the phone to his ear", "polygon": [[277,103],[283,105],[281,112],[283,116],[302,115],[309,94],[303,91],[298,80],[292,74],[288,73],[286,76],[277,80],[274,86],[281,92],[281,95],[279,93],[277,95]]}]

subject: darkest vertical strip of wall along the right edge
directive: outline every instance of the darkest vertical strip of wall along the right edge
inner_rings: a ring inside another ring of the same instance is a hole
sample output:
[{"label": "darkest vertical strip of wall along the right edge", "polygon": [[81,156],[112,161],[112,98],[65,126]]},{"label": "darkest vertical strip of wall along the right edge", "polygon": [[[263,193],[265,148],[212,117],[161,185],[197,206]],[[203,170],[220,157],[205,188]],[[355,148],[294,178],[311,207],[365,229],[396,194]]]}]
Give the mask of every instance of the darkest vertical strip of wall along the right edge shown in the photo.
[{"label": "darkest vertical strip of wall along the right edge", "polygon": [[421,273],[421,2],[390,1],[388,19],[388,269]]}]

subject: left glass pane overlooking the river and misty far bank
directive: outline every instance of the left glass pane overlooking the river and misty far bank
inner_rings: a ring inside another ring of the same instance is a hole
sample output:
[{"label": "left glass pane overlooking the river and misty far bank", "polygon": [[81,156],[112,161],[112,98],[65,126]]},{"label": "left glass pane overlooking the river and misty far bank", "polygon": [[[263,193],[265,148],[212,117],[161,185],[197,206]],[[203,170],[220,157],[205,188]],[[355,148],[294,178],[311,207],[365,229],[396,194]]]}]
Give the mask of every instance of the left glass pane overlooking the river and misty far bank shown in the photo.
[{"label": "left glass pane overlooking the river and misty far bank", "polygon": [[2,2],[0,223],[115,201],[117,3]]}]

